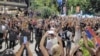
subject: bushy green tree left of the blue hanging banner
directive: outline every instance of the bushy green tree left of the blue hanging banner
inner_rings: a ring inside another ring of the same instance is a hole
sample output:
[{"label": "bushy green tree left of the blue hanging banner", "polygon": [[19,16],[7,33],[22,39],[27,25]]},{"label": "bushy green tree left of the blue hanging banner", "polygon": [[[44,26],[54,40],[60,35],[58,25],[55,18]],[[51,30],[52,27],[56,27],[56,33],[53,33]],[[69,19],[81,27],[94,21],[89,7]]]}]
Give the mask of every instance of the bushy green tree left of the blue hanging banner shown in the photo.
[{"label": "bushy green tree left of the blue hanging banner", "polygon": [[48,18],[51,14],[57,14],[57,5],[55,0],[31,0],[31,8],[41,13],[42,18]]}]

